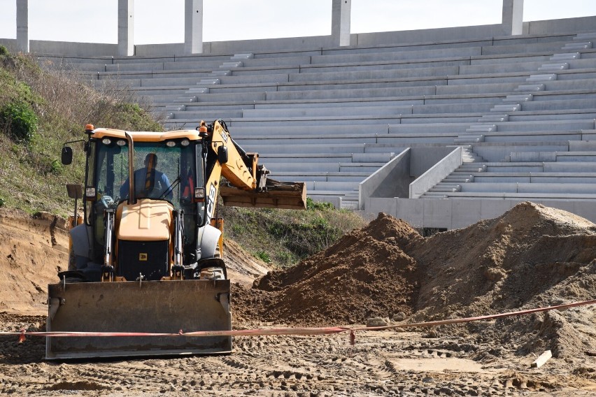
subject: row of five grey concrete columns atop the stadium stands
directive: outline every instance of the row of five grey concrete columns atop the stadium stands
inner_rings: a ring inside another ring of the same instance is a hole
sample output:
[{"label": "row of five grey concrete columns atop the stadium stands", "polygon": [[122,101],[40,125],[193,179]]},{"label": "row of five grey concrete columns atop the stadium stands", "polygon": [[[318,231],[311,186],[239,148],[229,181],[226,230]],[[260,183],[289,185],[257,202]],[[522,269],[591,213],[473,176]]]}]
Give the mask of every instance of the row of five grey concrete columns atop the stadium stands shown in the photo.
[{"label": "row of five grey concrete columns atop the stadium stands", "polygon": [[[29,52],[29,0],[17,1],[17,48]],[[338,47],[350,45],[352,0],[333,0],[331,36]],[[203,52],[203,0],[185,0],[184,50]],[[504,34],[523,33],[523,0],[503,0]],[[134,0],[118,0],[118,55],[134,55]]]}]

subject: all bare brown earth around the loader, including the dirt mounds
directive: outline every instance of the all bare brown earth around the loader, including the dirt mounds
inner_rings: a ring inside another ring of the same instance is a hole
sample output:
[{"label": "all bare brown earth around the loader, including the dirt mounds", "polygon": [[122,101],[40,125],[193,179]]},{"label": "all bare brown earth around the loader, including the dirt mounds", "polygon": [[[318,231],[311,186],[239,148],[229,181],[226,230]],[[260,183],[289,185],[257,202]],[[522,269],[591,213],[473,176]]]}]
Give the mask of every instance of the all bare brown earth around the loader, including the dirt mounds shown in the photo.
[{"label": "all bare brown earth around the loader, including the dirt mounds", "polygon": [[[0,331],[45,330],[66,268],[64,219],[0,209]],[[423,238],[379,214],[324,252],[269,271],[225,245],[234,329],[456,319],[596,297],[596,225],[521,203]],[[253,281],[257,279],[256,282]],[[232,354],[45,361],[45,340],[0,336],[16,396],[593,396],[596,307],[416,329],[234,338]],[[551,350],[553,358],[531,368]]]}]

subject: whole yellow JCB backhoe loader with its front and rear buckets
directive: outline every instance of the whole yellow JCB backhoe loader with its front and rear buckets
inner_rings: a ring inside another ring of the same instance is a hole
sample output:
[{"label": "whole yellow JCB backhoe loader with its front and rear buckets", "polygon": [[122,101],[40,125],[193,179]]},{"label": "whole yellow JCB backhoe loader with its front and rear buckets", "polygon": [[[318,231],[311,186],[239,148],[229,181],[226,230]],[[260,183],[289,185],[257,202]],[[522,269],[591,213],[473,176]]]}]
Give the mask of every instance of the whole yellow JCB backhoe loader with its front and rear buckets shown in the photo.
[{"label": "whole yellow JCB backhoe loader with its front and rear buckets", "polygon": [[[230,336],[122,335],[231,330],[218,194],[225,205],[304,209],[304,183],[268,178],[222,120],[85,132],[84,187],[67,185],[73,218],[78,198],[83,217],[70,230],[68,270],[48,285],[46,329],[120,336],[48,336],[46,359],[231,352]],[[64,144],[63,164],[76,142]]]}]

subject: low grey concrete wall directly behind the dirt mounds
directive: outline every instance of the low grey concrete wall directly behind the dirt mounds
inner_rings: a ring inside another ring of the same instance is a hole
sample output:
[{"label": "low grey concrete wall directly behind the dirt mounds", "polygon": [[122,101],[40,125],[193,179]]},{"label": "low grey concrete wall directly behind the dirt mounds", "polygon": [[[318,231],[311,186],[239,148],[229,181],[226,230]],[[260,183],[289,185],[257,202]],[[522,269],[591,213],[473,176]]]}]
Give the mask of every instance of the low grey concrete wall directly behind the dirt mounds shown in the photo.
[{"label": "low grey concrete wall directly behind the dirt mounds", "polygon": [[[448,200],[413,198],[367,198],[364,212],[370,216],[385,212],[404,219],[413,227],[460,229],[482,219],[499,217],[514,205],[526,200],[474,200],[450,198]],[[596,201],[532,200],[534,203],[573,212],[596,223]]]}]

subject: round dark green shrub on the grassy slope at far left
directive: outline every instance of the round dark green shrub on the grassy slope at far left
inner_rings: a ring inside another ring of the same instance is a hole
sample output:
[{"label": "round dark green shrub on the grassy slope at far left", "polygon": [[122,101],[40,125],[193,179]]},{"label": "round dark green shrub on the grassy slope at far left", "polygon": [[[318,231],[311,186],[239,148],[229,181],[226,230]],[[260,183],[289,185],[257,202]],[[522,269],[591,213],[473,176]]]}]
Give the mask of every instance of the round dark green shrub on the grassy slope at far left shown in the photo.
[{"label": "round dark green shrub on the grassy slope at far left", "polygon": [[30,143],[39,120],[29,103],[11,101],[0,108],[0,127],[17,140]]}]

